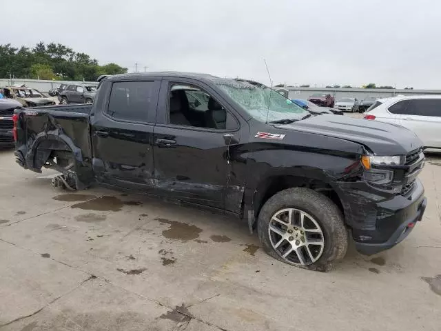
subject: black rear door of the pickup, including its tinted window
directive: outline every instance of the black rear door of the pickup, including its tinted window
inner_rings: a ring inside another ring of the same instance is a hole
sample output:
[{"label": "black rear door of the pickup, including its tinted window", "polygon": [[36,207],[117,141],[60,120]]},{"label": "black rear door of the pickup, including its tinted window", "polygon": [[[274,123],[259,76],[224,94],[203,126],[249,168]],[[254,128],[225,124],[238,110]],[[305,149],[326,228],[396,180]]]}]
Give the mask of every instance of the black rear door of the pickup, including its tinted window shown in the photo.
[{"label": "black rear door of the pickup, including its tinted window", "polygon": [[152,189],[152,134],[160,81],[103,81],[92,117],[93,169],[99,181]]}]

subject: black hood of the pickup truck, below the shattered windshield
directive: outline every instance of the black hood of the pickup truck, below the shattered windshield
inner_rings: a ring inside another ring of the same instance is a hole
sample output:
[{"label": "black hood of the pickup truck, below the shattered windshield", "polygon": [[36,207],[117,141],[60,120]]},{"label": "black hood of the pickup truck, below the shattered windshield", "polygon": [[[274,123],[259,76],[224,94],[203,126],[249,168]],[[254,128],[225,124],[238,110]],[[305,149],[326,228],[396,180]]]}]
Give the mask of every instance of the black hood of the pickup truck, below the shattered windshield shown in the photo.
[{"label": "black hood of the pickup truck, below the shattered windshield", "polygon": [[395,124],[353,119],[346,116],[320,115],[276,128],[321,134],[353,141],[377,155],[405,155],[422,147],[422,141],[410,130]]}]

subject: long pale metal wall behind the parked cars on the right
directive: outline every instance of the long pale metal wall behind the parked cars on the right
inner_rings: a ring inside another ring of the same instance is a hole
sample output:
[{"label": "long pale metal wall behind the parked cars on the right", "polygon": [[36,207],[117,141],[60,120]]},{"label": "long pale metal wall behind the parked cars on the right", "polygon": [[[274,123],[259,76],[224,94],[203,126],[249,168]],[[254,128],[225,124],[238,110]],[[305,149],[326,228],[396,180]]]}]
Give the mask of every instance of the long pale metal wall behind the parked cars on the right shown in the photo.
[{"label": "long pale metal wall behind the parked cars on the right", "polygon": [[[276,88],[278,89],[278,88]],[[283,88],[288,91],[289,99],[308,99],[313,93],[329,93],[336,98],[342,97],[357,98],[363,100],[366,97],[389,98],[398,94],[416,95],[416,94],[441,94],[441,90],[388,90],[388,89],[372,89],[372,88],[296,88],[295,86],[287,86]]]}]

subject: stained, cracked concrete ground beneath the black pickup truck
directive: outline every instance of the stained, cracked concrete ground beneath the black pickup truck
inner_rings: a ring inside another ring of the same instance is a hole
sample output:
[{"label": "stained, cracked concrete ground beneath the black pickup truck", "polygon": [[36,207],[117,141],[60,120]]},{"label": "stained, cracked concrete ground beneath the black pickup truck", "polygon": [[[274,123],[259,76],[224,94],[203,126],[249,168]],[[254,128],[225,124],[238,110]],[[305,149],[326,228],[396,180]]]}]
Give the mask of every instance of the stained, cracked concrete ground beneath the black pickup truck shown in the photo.
[{"label": "stained, cracked concrete ground beneath the black pickup truck", "polygon": [[1,331],[441,329],[441,157],[409,237],[328,273],[272,259],[232,217],[56,190],[10,150],[0,169]]}]

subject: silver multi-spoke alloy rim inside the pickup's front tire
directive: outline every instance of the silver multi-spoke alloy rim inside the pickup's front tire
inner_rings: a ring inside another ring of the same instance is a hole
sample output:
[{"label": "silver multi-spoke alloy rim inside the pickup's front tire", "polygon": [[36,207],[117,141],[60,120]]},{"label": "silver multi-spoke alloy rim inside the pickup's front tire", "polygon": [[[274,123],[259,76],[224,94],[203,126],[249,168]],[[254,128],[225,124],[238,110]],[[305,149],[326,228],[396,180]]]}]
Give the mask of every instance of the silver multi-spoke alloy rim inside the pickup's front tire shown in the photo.
[{"label": "silver multi-spoke alloy rim inside the pickup's front tire", "polygon": [[325,237],[320,225],[303,210],[278,210],[269,221],[269,240],[277,254],[294,265],[310,265],[322,256]]}]

